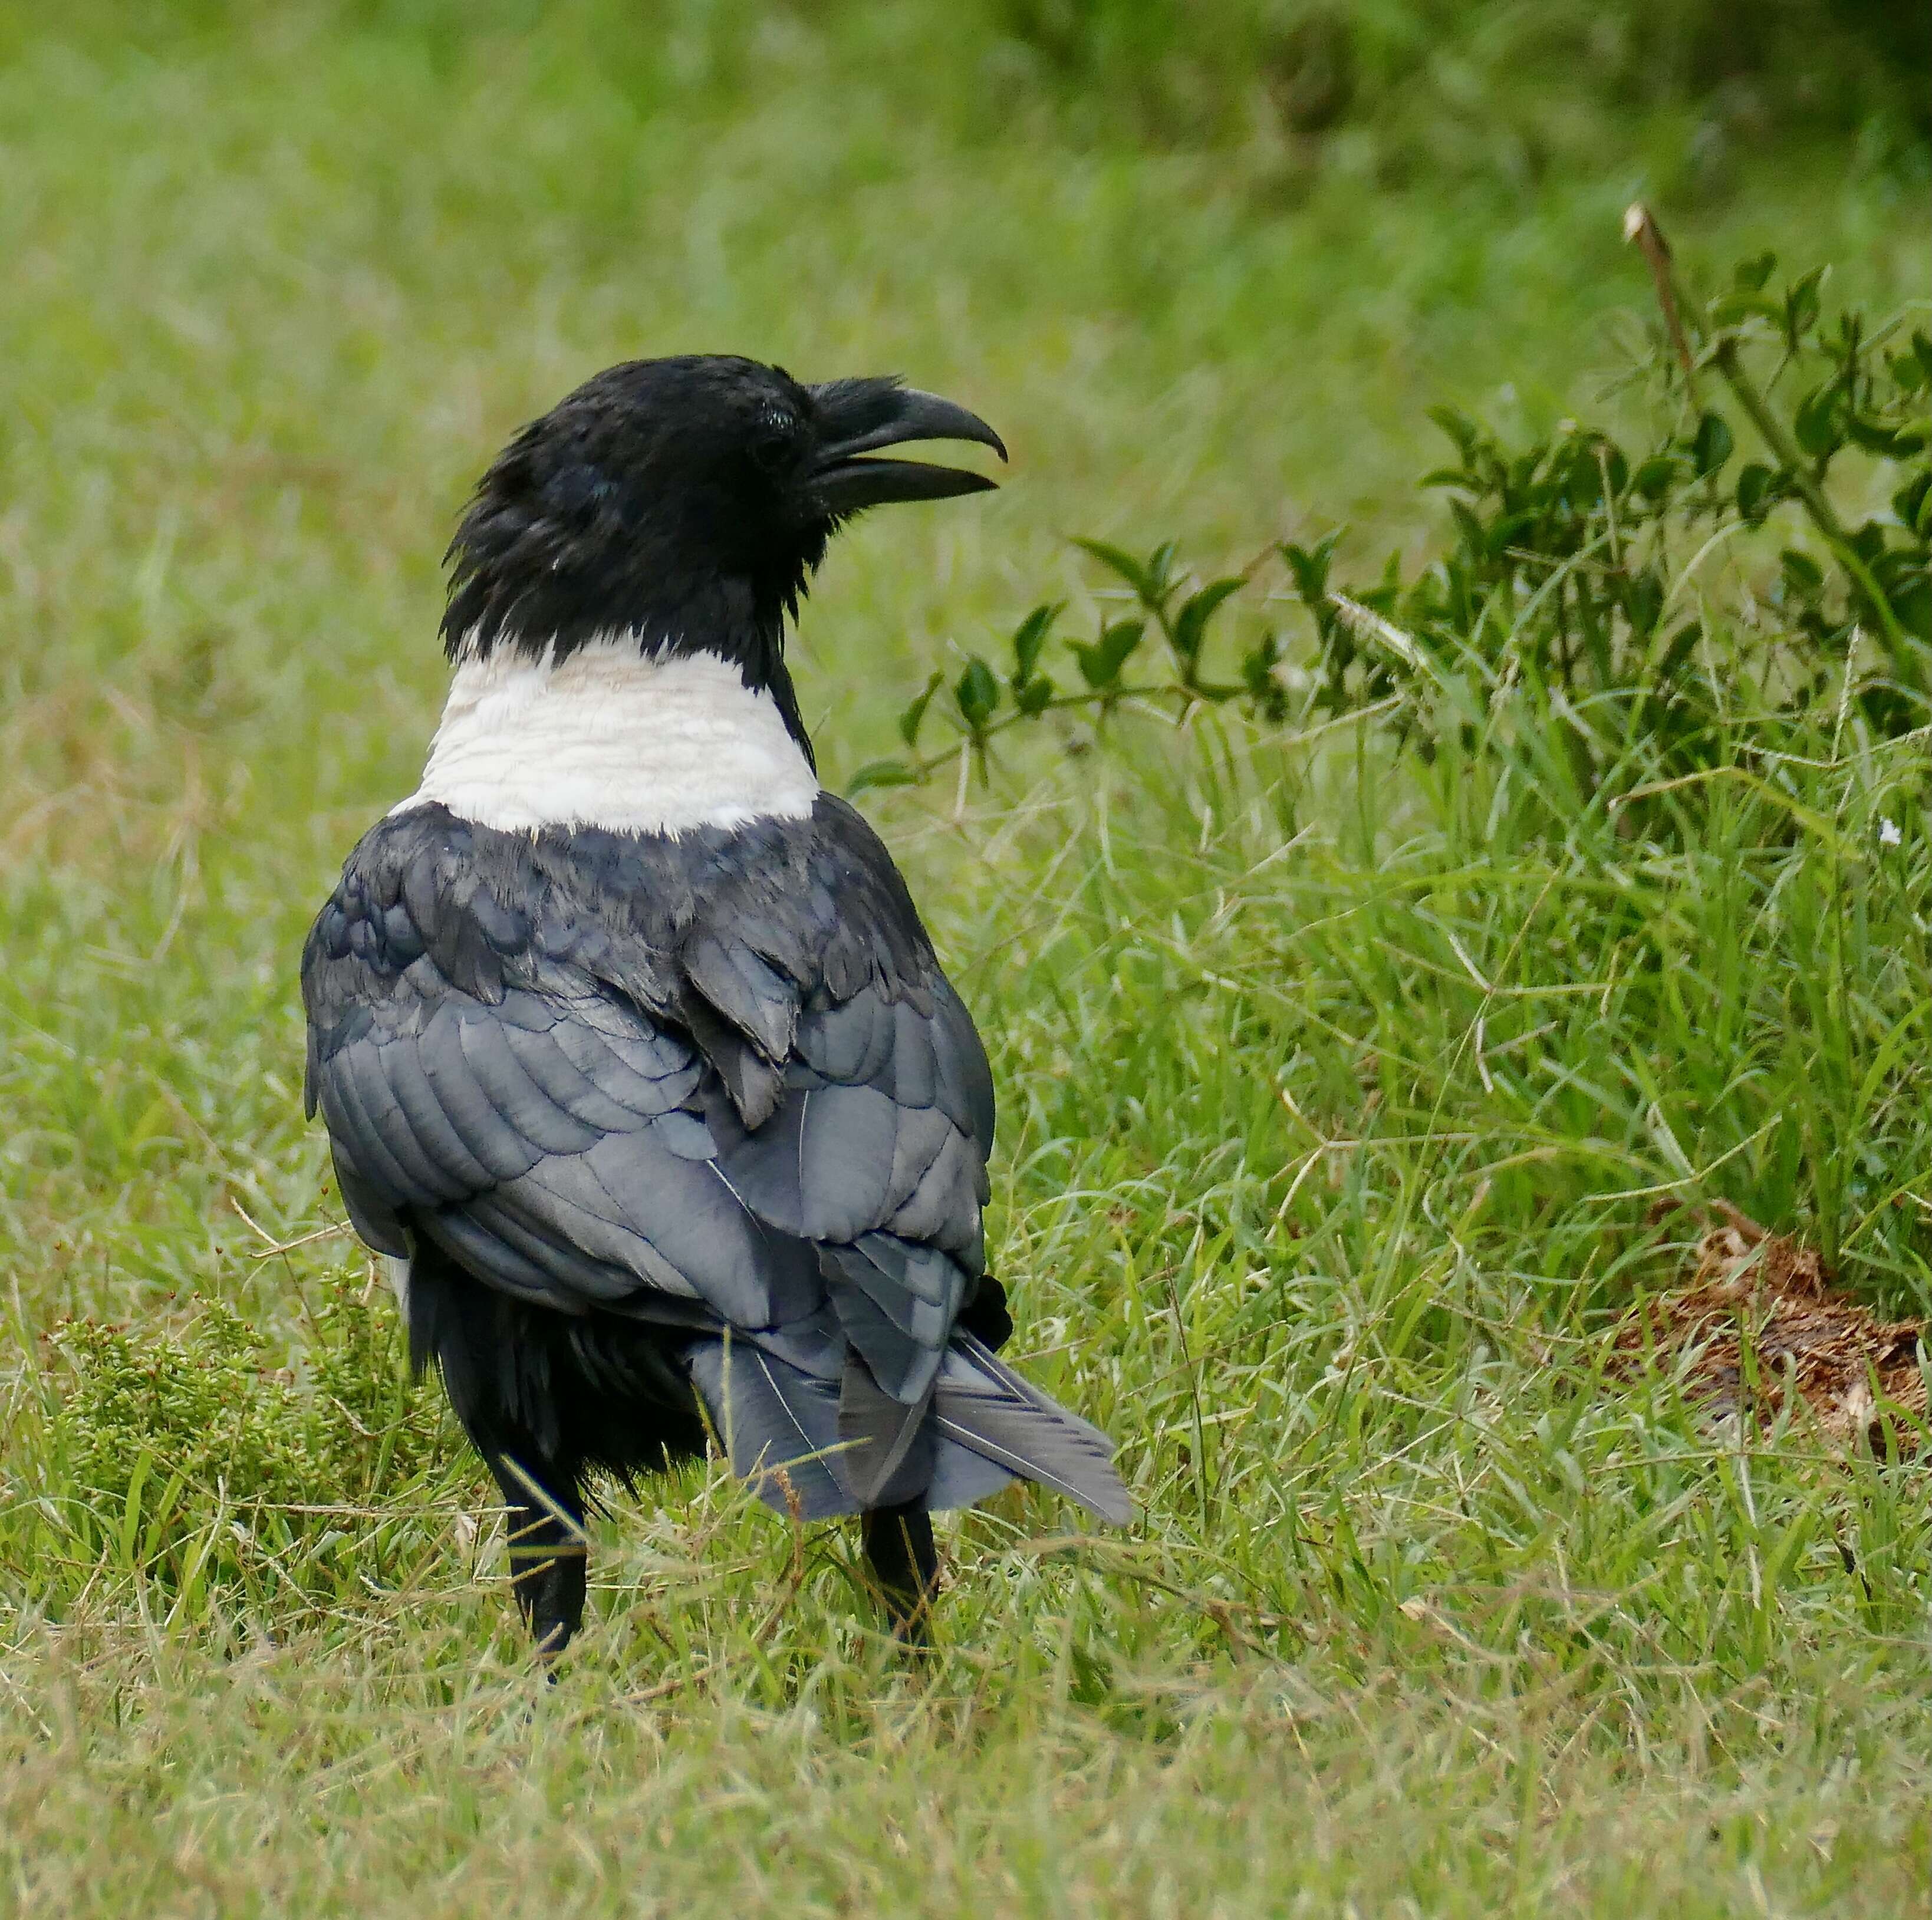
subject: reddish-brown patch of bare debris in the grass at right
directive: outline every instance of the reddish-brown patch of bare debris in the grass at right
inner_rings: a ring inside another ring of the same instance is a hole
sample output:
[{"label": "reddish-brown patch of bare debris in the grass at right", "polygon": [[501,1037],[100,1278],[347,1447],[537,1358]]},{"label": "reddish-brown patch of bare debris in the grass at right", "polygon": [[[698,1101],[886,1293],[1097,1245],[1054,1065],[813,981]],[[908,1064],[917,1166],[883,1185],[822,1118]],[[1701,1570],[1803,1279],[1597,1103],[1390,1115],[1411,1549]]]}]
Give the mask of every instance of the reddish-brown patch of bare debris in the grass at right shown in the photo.
[{"label": "reddish-brown patch of bare debris in the grass at right", "polygon": [[1876,1451],[1886,1447],[1880,1408],[1889,1402],[1895,1445],[1915,1451],[1913,1422],[1926,1418],[1924,1325],[1880,1319],[1835,1285],[1816,1248],[1725,1201],[1704,1219],[1689,1285],[1623,1321],[1619,1358],[1634,1369],[1675,1366],[1689,1352],[1698,1398],[1719,1414],[1748,1406],[1768,1420],[1797,1391],[1820,1431]]}]

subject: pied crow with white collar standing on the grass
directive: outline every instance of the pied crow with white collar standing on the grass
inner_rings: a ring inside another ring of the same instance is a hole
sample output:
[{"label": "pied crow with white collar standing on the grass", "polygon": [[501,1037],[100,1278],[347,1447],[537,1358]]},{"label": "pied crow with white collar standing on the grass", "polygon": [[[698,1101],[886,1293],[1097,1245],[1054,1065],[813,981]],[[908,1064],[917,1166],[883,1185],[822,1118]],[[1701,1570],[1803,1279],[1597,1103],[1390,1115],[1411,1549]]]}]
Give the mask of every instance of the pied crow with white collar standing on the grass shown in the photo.
[{"label": "pied crow with white collar standing on the grass", "polygon": [[301,956],[307,1109],[512,1528],[541,1648],[585,1497],[701,1454],[860,1514],[923,1634],[927,1514],[1014,1476],[1124,1522],[1103,1433],[995,1358],[985,1053],[906,885],[819,786],[784,663],[835,527],[993,483],[893,379],[630,361],[524,427],[446,554],[417,790]]}]

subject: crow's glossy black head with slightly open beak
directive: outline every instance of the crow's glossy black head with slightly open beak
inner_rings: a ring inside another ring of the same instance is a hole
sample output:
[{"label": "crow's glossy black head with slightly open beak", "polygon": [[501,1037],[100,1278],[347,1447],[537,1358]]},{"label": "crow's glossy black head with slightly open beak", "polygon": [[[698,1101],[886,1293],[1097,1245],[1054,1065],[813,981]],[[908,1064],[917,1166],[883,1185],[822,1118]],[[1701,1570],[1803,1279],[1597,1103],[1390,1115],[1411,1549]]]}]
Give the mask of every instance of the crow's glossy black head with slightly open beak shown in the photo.
[{"label": "crow's glossy black head with slightly open beak", "polygon": [[636,634],[645,649],[721,653],[753,686],[782,680],[784,616],[838,522],[993,485],[864,458],[902,440],[1007,456],[985,421],[889,379],[804,386],[728,355],[609,367],[483,475],[450,543],[444,645],[562,655]]}]

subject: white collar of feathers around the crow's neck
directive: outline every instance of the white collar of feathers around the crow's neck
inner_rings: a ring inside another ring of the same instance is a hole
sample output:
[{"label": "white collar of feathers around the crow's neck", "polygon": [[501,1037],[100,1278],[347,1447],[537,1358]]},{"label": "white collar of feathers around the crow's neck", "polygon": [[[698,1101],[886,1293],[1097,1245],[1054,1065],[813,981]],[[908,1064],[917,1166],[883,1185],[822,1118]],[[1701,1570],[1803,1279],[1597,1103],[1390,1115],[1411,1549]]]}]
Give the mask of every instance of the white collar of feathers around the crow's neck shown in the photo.
[{"label": "white collar of feathers around the crow's neck", "polygon": [[728,661],[595,639],[554,664],[460,661],[423,784],[394,811],[440,802],[506,833],[686,833],[802,819],[817,796],[777,701]]}]

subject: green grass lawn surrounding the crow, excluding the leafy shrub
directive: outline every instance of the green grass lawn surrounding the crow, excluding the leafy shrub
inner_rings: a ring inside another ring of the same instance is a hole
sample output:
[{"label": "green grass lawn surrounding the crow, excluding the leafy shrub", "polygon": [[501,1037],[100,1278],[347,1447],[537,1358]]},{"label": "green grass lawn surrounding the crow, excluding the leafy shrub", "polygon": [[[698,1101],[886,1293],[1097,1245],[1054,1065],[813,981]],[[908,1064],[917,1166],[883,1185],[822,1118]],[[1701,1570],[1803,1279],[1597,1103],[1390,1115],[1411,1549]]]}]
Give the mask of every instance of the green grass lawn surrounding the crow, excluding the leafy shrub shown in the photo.
[{"label": "green grass lawn surrounding the crow, excluding the leafy shrub", "polygon": [[1605,1337],[1681,1257],[1662,1194],[1932,1312],[1922,742],[1826,715],[1636,838],[1534,751],[1354,726],[869,796],[993,1053],[1016,1352],[1144,1512],[960,1520],[923,1677],[842,1532],[694,1470],[614,1501],[545,1688],[386,1294],[311,1238],[294,991],[421,763],[464,489],[611,359],[896,369],[1009,433],[999,498],[821,576],[842,775],[927,657],[1084,595],[1065,533],[1418,541],[1422,404],[1596,404],[1634,191],[1692,270],[1882,307],[1920,184],[1768,143],[1689,201],[1658,114],[1285,195],[993,137],[916,8],[649,52],[373,12],[0,21],[0,1912],[1924,1910],[1922,1476]]}]

